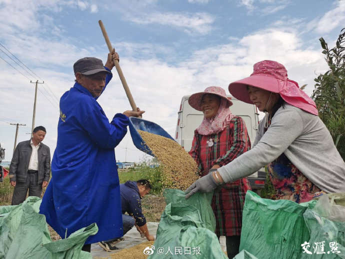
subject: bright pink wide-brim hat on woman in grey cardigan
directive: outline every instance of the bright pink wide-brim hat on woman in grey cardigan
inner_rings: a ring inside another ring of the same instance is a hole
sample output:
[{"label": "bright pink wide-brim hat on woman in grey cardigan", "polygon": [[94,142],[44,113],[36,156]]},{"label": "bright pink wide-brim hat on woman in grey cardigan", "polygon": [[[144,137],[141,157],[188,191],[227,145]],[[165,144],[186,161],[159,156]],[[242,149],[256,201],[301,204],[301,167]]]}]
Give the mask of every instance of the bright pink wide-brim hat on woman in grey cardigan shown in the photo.
[{"label": "bright pink wide-brim hat on woman in grey cardigan", "polygon": [[254,71],[249,77],[229,84],[229,92],[233,97],[253,104],[249,98],[248,85],[279,93],[287,103],[309,113],[318,114],[315,102],[299,89],[297,82],[287,78],[285,67],[276,61],[263,60],[255,63]]}]

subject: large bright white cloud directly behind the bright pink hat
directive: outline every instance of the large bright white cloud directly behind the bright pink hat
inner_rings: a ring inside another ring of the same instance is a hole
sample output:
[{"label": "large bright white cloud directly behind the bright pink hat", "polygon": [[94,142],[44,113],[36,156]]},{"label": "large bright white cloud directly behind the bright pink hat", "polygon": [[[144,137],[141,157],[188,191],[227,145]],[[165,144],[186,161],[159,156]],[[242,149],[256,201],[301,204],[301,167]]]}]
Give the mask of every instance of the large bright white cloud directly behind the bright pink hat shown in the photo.
[{"label": "large bright white cloud directly behind the bright pink hat", "polygon": [[252,32],[237,42],[196,51],[182,65],[195,70],[196,85],[215,84],[226,89],[230,81],[250,75],[252,65],[263,59],[282,63],[289,78],[300,85],[308,84],[308,94],[313,90],[313,78],[326,69],[319,49],[305,48],[297,32],[277,28]]}]

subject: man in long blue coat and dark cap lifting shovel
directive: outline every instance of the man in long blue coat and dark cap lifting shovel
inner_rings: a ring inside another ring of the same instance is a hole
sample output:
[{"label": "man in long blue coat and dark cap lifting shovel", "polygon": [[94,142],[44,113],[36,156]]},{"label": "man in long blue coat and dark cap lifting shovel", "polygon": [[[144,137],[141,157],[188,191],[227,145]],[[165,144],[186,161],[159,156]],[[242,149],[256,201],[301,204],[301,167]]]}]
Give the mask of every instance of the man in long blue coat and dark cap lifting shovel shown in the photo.
[{"label": "man in long blue coat and dark cap lifting shovel", "polygon": [[57,144],[51,162],[52,178],[40,213],[62,237],[96,223],[90,244],[122,236],[122,213],[114,147],[127,132],[128,117],[144,111],[116,113],[109,123],[96,101],[112,77],[116,52],[100,59],[84,57],[74,65],[75,83],[60,98]]}]

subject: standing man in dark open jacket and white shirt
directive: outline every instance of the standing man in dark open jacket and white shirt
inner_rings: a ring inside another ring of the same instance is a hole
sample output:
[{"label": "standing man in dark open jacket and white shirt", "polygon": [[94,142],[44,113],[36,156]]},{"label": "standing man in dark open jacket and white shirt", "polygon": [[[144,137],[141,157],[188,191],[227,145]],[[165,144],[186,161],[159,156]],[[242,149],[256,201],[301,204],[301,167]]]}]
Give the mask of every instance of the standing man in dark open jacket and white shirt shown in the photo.
[{"label": "standing man in dark open jacket and white shirt", "polygon": [[12,205],[23,202],[27,189],[29,196],[40,197],[50,177],[50,150],[42,143],[46,130],[37,126],[30,140],[19,142],[9,165],[10,184],[14,187]]}]

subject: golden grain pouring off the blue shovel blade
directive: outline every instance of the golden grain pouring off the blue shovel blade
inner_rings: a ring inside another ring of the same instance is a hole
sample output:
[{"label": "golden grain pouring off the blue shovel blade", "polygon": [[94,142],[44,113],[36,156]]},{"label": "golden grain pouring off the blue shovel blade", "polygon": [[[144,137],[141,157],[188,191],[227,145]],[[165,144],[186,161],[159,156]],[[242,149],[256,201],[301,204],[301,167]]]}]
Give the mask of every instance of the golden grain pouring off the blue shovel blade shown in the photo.
[{"label": "golden grain pouring off the blue shovel blade", "polygon": [[138,132],[161,162],[163,187],[184,190],[199,178],[197,164],[177,142],[146,131]]}]

